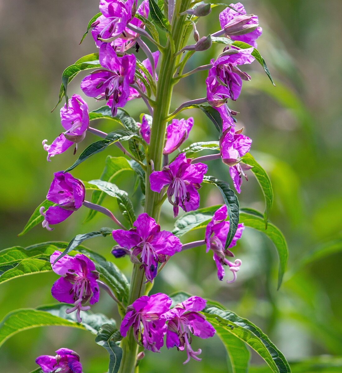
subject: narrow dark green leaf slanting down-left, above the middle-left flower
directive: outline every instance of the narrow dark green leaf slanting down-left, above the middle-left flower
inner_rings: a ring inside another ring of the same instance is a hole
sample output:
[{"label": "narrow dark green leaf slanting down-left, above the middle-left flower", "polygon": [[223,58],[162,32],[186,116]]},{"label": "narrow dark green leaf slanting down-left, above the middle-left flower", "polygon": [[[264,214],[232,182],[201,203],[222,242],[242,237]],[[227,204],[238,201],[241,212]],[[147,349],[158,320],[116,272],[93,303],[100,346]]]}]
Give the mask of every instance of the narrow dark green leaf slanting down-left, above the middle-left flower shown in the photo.
[{"label": "narrow dark green leaf slanting down-left, above the middle-left flower", "polygon": [[98,140],[90,144],[87,148],[82,151],[81,155],[75,161],[75,163],[70,166],[65,172],[69,172],[77,167],[80,163],[84,162],[89,157],[93,156],[96,153],[100,153],[107,148],[107,146],[114,144],[117,141],[127,141],[132,137],[140,139],[140,137],[129,131],[128,129],[117,129],[116,131],[110,132],[105,139]]}]

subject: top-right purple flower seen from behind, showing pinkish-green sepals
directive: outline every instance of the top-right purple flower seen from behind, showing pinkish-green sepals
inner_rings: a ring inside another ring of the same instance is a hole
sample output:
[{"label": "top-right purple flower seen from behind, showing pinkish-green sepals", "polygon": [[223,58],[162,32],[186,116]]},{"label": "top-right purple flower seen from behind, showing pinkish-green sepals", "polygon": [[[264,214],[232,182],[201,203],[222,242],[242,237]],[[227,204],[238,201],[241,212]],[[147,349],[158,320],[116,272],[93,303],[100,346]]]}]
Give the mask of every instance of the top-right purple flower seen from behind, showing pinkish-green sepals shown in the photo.
[{"label": "top-right purple flower seen from behind, showing pinkish-green sepals", "polygon": [[[226,8],[220,13],[220,25],[225,30],[226,35],[232,40],[243,41],[250,44],[252,47],[257,47],[255,40],[262,34],[263,29],[258,27],[258,16],[252,15],[245,17],[242,14],[247,14],[244,6],[241,3],[230,4],[238,12],[231,8]],[[234,35],[236,32],[236,35]]]}]

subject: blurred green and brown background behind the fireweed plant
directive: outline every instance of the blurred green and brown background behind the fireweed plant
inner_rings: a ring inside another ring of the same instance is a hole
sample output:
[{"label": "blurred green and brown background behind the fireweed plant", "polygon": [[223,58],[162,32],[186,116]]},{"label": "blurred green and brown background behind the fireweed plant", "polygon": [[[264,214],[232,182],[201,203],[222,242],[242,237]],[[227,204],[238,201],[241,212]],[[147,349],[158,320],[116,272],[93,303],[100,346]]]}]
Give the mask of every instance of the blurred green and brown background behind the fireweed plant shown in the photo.
[{"label": "blurred green and brown background behind the fireweed plant", "polygon": [[[230,105],[240,112],[238,126],[253,139],[251,153],[267,170],[273,182],[274,205],[270,220],[284,233],[289,245],[288,272],[276,291],[277,255],[262,235],[245,229],[234,250],[241,258],[238,280],[219,282],[210,254],[203,247],[175,256],[161,272],[153,291],[168,294],[183,289],[223,303],[228,309],[250,319],[267,333],[289,361],[318,355],[342,355],[341,307],[341,33],[342,2],[329,4],[317,0],[244,1],[247,13],[257,14],[263,35],[258,50],[266,60],[277,87],[274,88],[257,62],[248,70],[251,82],[244,82],[239,100]],[[216,7],[200,19],[201,36],[219,29]],[[70,241],[78,233],[109,226],[110,221],[96,216],[82,224],[88,211],[81,209],[72,218],[47,232],[41,226],[18,238],[32,211],[44,200],[53,172],[66,169],[75,157],[66,152],[46,162],[41,141],[48,143],[60,133],[57,102],[60,75],[66,66],[96,50],[91,36],[79,46],[89,19],[98,12],[98,1],[0,0],[0,249],[38,242]],[[222,46],[197,53],[187,70],[208,63]],[[145,57],[139,51],[140,60]],[[84,74],[85,75],[85,74]],[[69,86],[69,95],[80,93],[80,78]],[[194,93],[196,96],[194,96]],[[173,107],[205,95],[205,72],[192,75],[176,86]],[[98,105],[88,99],[89,106]],[[146,109],[134,100],[126,109],[135,119]],[[217,132],[201,112],[194,116],[195,130],[186,144],[216,140]],[[97,128],[109,132],[111,123],[98,122]],[[238,127],[238,128],[239,128]],[[78,154],[95,141],[88,134]],[[82,163],[73,175],[88,181],[99,178],[107,155],[119,155],[110,147]],[[228,168],[221,162],[210,164],[210,175],[229,181]],[[131,174],[117,182],[132,192]],[[201,207],[221,203],[217,191],[201,189]],[[136,212],[141,212],[139,192],[132,197]],[[263,197],[250,174],[239,197],[240,206],[263,210]],[[117,211],[108,198],[105,205]],[[163,206],[163,228],[173,225],[170,206]],[[201,239],[196,231],[185,239]],[[87,246],[107,258],[113,241],[96,238]],[[130,275],[127,258],[116,264]],[[27,276],[1,285],[0,319],[16,308],[54,303],[50,288],[57,275]],[[94,311],[117,318],[115,306],[101,294]],[[225,350],[218,338],[196,340],[203,350],[201,363],[186,366],[184,354],[175,349],[161,354],[147,353],[141,372],[226,372]],[[1,372],[22,373],[35,369],[35,358],[53,354],[60,347],[72,348],[81,355],[85,373],[107,370],[107,352],[94,343],[87,332],[62,327],[38,328],[19,333],[0,350]],[[253,364],[263,361],[252,354]],[[319,360],[320,361],[320,360]],[[324,361],[317,366],[326,366]],[[295,369],[295,365],[294,365]],[[308,367],[307,372],[311,372]],[[340,372],[320,370],[321,372]],[[295,371],[295,370],[294,370]],[[260,371],[261,372],[261,371]]]}]

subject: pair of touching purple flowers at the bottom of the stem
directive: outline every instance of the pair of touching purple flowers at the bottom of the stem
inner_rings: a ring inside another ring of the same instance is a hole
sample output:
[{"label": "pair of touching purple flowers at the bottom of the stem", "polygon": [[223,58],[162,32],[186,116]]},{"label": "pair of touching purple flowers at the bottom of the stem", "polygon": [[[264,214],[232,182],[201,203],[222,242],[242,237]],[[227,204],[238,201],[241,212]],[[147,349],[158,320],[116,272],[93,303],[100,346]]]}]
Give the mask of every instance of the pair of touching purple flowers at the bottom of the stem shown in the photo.
[{"label": "pair of touching purple flowers at the bottom of the stem", "polygon": [[184,364],[190,358],[200,361],[198,355],[201,350],[192,350],[191,334],[210,338],[215,333],[213,326],[199,313],[205,308],[206,301],[200,297],[190,297],[170,309],[171,303],[171,299],[162,293],[138,298],[128,306],[120,333],[125,337],[132,328],[137,343],[153,352],[160,352],[166,334],[167,348],[176,347],[186,351],[187,359]]}]

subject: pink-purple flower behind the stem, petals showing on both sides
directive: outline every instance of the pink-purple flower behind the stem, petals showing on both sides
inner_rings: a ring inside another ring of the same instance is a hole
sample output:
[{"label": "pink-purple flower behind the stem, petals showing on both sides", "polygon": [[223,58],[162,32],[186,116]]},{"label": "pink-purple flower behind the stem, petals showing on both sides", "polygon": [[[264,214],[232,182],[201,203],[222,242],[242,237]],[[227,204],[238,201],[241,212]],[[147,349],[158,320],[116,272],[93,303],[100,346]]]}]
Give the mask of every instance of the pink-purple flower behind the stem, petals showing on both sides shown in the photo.
[{"label": "pink-purple flower behind the stem, petals showing on both sides", "polygon": [[[166,144],[163,154],[171,154],[178,149],[183,142],[188,138],[189,132],[194,125],[194,118],[189,119],[173,119],[172,123],[166,128]],[[150,144],[151,126],[145,115],[142,116],[140,127],[141,137]]]}]

